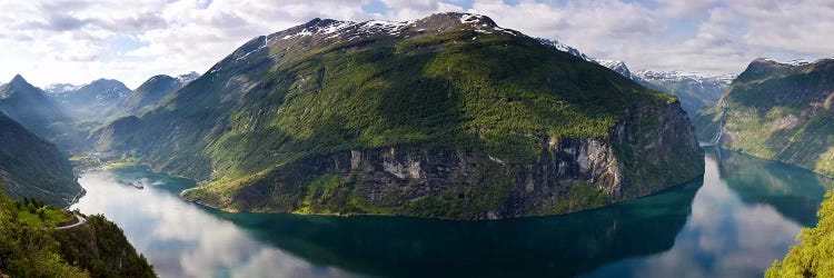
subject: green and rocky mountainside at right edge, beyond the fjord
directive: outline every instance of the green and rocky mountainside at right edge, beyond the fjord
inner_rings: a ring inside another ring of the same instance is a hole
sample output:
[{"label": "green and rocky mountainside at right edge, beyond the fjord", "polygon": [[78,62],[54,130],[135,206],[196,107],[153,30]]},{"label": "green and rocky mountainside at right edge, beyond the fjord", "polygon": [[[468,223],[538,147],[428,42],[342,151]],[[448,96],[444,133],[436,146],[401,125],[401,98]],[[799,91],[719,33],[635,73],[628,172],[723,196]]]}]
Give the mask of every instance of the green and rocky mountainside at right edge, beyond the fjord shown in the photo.
[{"label": "green and rocky mountainside at right edge, beyond the fjord", "polygon": [[834,175],[834,59],[757,59],[695,119],[701,140]]}]

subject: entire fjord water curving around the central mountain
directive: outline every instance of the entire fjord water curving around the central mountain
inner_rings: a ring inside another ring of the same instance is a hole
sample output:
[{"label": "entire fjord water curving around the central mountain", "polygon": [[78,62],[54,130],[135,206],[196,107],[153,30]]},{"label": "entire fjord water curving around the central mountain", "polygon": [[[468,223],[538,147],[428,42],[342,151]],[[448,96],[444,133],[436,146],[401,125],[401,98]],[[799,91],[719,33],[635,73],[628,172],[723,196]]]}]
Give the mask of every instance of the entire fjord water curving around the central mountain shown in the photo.
[{"label": "entire fjord water curving around the central mountain", "polygon": [[654,196],[499,221],[228,214],[146,168],[83,173],[73,208],[117,222],[161,277],[761,277],[816,222],[830,180],[715,148],[705,160],[703,179]]}]

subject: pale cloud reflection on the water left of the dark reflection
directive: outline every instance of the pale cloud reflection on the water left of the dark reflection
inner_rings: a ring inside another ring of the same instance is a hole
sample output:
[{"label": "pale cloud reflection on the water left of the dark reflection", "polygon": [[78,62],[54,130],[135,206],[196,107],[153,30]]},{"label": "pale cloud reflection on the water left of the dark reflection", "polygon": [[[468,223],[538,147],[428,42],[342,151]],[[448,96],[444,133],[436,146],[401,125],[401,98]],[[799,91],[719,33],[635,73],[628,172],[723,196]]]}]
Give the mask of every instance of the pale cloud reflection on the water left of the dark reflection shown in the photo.
[{"label": "pale cloud reflection on the water left of the dark reflection", "polygon": [[[137,189],[127,183],[145,176],[153,186]],[[192,185],[187,180],[127,169],[87,172],[79,182],[88,193],[73,208],[105,214],[117,222],[160,277],[350,276],[264,245],[234,224],[182,201],[176,191]]]}]

